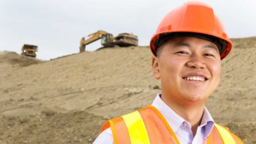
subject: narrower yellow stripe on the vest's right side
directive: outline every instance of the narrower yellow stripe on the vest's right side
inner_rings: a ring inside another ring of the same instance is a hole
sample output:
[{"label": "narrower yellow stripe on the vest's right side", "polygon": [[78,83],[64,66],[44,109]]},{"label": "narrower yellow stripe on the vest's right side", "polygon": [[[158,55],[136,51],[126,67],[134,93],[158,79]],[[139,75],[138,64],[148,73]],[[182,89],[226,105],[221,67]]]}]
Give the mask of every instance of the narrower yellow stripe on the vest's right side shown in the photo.
[{"label": "narrower yellow stripe on the vest's right side", "polygon": [[236,144],[236,141],[231,136],[231,134],[225,129],[224,127],[221,127],[218,124],[214,124],[215,127],[218,129],[218,132],[220,132],[221,139],[224,144]]}]

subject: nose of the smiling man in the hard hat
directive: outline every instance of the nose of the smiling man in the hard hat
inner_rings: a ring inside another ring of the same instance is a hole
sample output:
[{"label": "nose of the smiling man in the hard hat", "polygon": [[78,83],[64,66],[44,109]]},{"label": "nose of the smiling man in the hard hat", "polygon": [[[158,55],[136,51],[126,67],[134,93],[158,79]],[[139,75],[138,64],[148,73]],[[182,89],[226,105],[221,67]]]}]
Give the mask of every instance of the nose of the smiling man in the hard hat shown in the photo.
[{"label": "nose of the smiling man in the hard hat", "polygon": [[204,69],[205,63],[200,56],[194,54],[190,56],[187,66],[195,69]]}]

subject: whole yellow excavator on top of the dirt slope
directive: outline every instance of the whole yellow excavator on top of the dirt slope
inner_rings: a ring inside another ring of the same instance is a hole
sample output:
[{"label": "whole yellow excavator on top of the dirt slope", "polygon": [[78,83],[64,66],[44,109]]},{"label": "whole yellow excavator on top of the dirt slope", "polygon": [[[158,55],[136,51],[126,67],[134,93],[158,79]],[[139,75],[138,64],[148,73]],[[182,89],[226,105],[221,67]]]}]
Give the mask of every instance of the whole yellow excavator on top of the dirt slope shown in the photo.
[{"label": "whole yellow excavator on top of the dirt slope", "polygon": [[96,40],[101,38],[101,44],[103,47],[113,47],[119,45],[120,47],[128,47],[131,45],[138,45],[138,37],[130,33],[120,33],[117,36],[113,36],[111,33],[106,31],[97,31],[88,35],[88,38],[82,38],[80,41],[80,52],[85,51],[85,47]]}]

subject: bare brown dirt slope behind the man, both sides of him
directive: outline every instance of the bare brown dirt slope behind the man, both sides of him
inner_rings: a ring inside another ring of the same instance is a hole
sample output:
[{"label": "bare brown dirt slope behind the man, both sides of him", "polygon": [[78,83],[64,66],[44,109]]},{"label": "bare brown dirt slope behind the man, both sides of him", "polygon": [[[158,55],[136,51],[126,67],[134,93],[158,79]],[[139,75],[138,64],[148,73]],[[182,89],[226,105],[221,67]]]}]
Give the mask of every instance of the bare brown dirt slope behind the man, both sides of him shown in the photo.
[{"label": "bare brown dirt slope behind the man, both sides of him", "polygon": [[[256,143],[256,38],[232,39],[221,84],[207,102],[214,120]],[[92,143],[115,116],[161,92],[148,47],[108,48],[50,61],[0,52],[0,144]]]}]

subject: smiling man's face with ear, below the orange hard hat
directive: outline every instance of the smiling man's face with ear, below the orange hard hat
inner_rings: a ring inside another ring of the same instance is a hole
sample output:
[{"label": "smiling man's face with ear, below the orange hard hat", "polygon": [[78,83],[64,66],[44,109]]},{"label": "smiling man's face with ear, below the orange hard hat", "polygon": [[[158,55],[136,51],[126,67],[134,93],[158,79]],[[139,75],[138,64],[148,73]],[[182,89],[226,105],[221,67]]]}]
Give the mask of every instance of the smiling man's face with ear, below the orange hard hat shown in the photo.
[{"label": "smiling man's face with ear, below the orange hard hat", "polygon": [[173,38],[161,47],[152,68],[156,79],[161,79],[163,99],[205,102],[220,83],[218,47],[193,37]]}]

